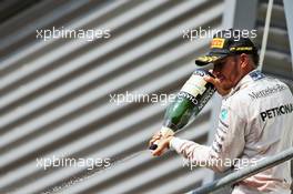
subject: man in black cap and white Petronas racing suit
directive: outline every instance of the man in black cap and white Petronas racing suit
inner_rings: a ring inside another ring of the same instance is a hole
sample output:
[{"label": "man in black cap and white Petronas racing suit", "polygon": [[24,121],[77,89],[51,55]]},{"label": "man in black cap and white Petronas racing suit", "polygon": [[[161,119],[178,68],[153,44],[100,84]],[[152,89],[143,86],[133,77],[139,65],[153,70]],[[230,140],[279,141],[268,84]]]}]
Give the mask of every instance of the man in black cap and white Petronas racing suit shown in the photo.
[{"label": "man in black cap and white Petronas racing suit", "polygon": [[[293,95],[286,84],[255,70],[257,49],[249,38],[229,37],[232,29],[214,35],[208,55],[198,65],[214,63],[205,81],[223,96],[219,125],[211,146],[155,134],[160,140],[153,155],[166,147],[190,162],[205,164],[216,172],[243,169],[293,146]],[[236,40],[238,39],[238,40]],[[291,194],[290,161],[263,171],[234,185],[232,194]]]}]

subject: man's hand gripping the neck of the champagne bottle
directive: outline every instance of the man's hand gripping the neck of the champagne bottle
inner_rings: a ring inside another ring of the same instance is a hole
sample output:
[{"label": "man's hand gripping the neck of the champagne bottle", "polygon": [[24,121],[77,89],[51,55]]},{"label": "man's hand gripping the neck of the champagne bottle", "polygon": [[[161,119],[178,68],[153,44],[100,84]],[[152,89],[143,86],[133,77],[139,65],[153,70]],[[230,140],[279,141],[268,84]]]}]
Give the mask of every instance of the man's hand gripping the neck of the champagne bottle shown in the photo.
[{"label": "man's hand gripping the neck of the champagne bottle", "polygon": [[169,149],[169,143],[173,139],[173,135],[168,137],[163,137],[162,134],[159,132],[153,135],[152,140],[150,141],[149,145],[152,145],[154,142],[159,141],[158,147],[152,152],[153,156],[160,156],[164,153],[165,149]]}]

